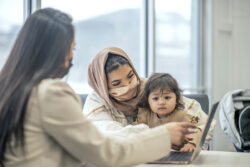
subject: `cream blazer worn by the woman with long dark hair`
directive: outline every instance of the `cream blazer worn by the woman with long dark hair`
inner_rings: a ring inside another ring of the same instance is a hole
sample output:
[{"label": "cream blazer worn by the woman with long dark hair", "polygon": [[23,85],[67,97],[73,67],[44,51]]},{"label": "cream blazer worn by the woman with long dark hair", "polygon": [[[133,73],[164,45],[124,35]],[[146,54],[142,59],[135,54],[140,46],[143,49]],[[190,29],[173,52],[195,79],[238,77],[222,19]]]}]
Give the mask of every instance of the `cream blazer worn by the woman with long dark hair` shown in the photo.
[{"label": "cream blazer worn by the woman with long dark hair", "polygon": [[127,138],[102,135],[82,114],[79,97],[59,79],[43,80],[33,88],[24,132],[24,152],[19,146],[7,149],[6,167],[131,166],[170,151],[164,126]]}]

